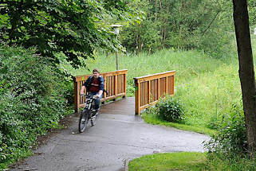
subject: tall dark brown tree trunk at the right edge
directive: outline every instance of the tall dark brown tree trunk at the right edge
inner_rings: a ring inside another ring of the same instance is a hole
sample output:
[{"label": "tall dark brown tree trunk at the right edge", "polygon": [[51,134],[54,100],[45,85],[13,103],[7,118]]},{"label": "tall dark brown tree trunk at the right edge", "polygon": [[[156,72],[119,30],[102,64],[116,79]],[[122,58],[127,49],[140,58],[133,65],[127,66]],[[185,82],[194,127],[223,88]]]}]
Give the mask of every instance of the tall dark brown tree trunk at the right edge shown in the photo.
[{"label": "tall dark brown tree trunk at the right edge", "polygon": [[254,61],[250,43],[246,0],[233,0],[234,28],[238,46],[239,78],[250,154],[256,151],[256,87]]}]

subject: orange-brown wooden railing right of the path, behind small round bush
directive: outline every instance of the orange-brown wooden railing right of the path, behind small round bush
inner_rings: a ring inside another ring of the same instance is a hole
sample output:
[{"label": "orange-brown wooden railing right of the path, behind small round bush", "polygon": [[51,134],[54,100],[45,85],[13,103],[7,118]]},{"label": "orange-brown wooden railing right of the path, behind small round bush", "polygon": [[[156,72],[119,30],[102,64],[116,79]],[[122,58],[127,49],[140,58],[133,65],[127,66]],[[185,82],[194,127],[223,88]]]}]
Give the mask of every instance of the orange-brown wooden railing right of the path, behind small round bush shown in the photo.
[{"label": "orange-brown wooden railing right of the path, behind small round bush", "polygon": [[161,96],[174,95],[175,71],[133,78],[136,86],[135,113],[156,104]]}]

